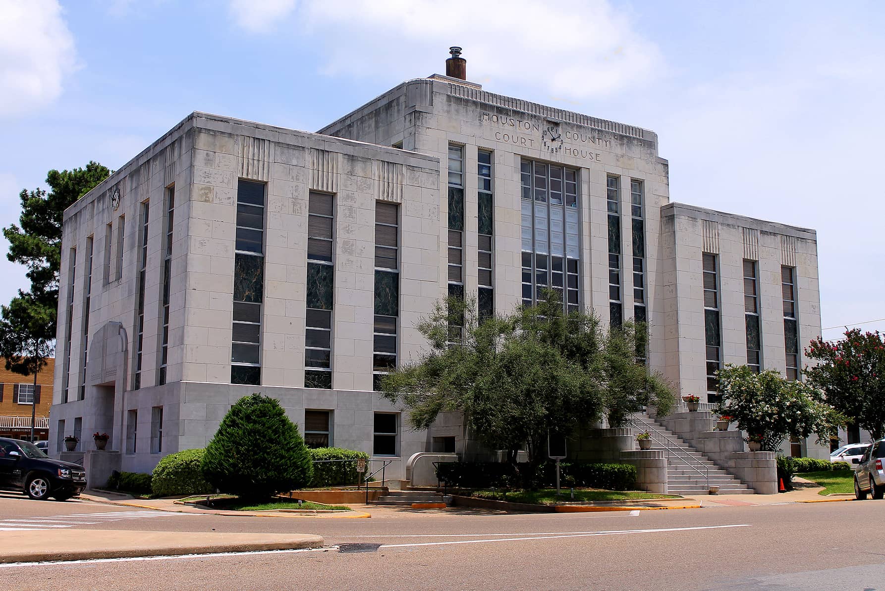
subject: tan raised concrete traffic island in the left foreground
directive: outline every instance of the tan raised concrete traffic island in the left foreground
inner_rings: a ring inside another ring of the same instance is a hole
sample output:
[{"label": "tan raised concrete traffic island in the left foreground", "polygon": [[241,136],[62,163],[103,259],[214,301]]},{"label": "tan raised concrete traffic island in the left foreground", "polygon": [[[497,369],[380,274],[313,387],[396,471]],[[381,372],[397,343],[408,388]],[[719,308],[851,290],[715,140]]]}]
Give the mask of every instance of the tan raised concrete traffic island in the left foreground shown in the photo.
[{"label": "tan raised concrete traffic island in the left foreground", "polygon": [[211,532],[150,532],[142,530],[45,530],[4,532],[0,563],[96,558],[217,554],[258,550],[319,548],[319,535],[220,534]]}]

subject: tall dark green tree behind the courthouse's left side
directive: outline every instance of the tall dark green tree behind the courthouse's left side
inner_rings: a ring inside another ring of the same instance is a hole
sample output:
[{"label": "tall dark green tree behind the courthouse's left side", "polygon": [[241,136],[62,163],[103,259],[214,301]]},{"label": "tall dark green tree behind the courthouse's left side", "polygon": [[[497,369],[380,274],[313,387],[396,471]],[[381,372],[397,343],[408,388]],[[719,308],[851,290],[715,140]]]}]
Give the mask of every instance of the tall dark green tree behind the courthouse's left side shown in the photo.
[{"label": "tall dark green tree behind the courthouse's left side", "polygon": [[[29,291],[19,290],[8,306],[0,308],[0,356],[5,367],[21,375],[37,374],[55,350],[58,315],[58,273],[61,268],[62,219],[65,208],[111,174],[99,163],[85,169],[50,170],[44,189],[19,193],[19,224],[3,229],[9,241],[6,258],[27,267]],[[36,402],[36,401],[35,401]],[[34,439],[32,408],[31,439]]]}]

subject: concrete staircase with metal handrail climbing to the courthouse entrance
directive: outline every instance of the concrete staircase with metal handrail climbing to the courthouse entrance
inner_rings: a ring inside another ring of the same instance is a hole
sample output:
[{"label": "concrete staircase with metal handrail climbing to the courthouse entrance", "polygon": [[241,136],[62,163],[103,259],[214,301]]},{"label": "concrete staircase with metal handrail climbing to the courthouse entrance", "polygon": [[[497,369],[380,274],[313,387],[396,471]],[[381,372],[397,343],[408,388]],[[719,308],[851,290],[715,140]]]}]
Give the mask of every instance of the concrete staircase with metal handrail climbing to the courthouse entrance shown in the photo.
[{"label": "concrete staircase with metal handrail climbing to the courthouse entrance", "polygon": [[651,449],[667,452],[667,491],[671,495],[706,495],[718,486],[721,495],[752,495],[753,489],[737,480],[646,413],[632,417],[637,433],[649,431]]}]

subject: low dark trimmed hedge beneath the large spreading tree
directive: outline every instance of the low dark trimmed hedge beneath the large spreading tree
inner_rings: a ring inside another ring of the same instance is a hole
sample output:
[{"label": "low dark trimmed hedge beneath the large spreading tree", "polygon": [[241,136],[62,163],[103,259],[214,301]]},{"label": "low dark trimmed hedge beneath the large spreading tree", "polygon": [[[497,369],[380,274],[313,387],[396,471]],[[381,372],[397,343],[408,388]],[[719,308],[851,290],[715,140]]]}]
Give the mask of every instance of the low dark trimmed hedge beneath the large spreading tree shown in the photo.
[{"label": "low dark trimmed hedge beneath the large spreading tree", "polygon": [[[560,485],[589,489],[632,490],[636,486],[636,466],[561,462]],[[436,469],[440,481],[459,489],[515,488],[522,480],[510,464],[500,462],[448,462]],[[545,462],[538,469],[537,485],[556,486],[556,463]]]}]

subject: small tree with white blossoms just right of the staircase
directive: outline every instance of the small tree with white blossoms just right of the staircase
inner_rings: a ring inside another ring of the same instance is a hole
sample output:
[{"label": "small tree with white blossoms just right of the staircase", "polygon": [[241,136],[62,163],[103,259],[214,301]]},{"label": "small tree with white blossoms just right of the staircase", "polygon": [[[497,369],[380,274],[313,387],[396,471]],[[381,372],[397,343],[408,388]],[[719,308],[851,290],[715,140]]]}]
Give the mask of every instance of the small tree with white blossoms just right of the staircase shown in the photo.
[{"label": "small tree with white blossoms just right of the staircase", "polygon": [[732,416],[737,427],[758,437],[762,451],[777,451],[784,437],[817,435],[828,443],[842,421],[811,385],[788,380],[773,369],[755,373],[750,367],[727,364],[716,373],[722,392],[717,413]]}]

